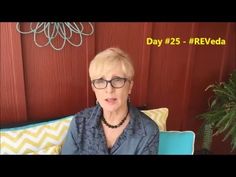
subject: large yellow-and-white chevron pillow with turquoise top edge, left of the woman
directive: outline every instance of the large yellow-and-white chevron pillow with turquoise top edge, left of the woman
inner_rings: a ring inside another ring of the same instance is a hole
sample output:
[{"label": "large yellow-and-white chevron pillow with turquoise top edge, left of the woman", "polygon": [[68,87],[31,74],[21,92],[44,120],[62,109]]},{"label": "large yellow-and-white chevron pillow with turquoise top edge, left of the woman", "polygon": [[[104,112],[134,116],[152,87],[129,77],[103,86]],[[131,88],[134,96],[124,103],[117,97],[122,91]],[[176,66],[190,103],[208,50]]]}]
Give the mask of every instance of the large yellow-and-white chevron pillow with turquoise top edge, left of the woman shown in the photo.
[{"label": "large yellow-and-white chevron pillow with turquoise top edge, left of the woman", "polygon": [[59,154],[73,116],[0,130],[0,154]]}]

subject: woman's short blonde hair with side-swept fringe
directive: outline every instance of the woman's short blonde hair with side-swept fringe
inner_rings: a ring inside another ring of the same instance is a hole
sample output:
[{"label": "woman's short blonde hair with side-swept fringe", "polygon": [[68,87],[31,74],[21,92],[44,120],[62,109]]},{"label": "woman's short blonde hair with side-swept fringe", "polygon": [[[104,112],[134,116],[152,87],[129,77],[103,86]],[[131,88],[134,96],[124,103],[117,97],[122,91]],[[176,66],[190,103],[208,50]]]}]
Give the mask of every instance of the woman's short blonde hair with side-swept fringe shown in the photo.
[{"label": "woman's short blonde hair with side-swept fringe", "polygon": [[108,48],[98,53],[90,62],[89,76],[91,80],[99,79],[121,64],[125,77],[132,80],[134,67],[128,54],[119,48]]}]

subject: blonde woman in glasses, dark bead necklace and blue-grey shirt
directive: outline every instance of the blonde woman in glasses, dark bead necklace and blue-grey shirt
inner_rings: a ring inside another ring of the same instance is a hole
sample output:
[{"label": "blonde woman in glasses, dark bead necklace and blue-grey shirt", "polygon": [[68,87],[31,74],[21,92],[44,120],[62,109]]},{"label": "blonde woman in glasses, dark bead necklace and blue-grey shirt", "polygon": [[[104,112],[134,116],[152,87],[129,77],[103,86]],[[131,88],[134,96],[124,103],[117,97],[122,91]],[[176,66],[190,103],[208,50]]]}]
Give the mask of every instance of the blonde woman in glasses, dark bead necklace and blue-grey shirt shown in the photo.
[{"label": "blonde woman in glasses, dark bead necklace and blue-grey shirt", "polygon": [[129,56],[108,48],[89,66],[97,105],[75,115],[61,154],[157,154],[159,128],[129,100],[134,67]]}]

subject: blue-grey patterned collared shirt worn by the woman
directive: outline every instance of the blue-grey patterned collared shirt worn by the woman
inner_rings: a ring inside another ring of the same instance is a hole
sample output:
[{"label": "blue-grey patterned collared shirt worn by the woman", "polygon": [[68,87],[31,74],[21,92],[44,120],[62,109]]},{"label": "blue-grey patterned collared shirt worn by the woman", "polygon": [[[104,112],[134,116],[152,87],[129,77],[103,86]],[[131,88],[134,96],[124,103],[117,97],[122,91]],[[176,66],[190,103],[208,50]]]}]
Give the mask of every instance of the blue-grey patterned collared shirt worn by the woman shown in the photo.
[{"label": "blue-grey patterned collared shirt worn by the woman", "polygon": [[110,150],[101,124],[102,108],[96,105],[77,113],[72,119],[61,154],[157,154],[157,124],[129,106],[130,121]]}]

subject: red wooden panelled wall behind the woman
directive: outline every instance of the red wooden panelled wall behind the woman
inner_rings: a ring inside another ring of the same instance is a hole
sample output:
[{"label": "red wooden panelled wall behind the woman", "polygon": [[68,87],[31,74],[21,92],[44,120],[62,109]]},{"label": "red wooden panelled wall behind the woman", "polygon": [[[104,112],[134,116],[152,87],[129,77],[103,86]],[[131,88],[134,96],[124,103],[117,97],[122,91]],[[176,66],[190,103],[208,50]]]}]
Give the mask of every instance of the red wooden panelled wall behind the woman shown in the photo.
[{"label": "red wooden panelled wall behind the woman", "polygon": [[[21,23],[26,30],[29,23]],[[48,120],[74,114],[95,104],[88,65],[110,46],[127,51],[136,75],[131,100],[146,109],[168,107],[169,130],[197,131],[196,115],[207,110],[207,85],[223,81],[236,68],[235,23],[94,23],[95,33],[81,47],[69,44],[61,51],[37,47],[32,35],[19,34],[16,23],[1,29],[1,125]],[[217,45],[146,45],[147,37],[186,40],[219,38]],[[43,41],[43,36],[39,36]],[[60,44],[56,39],[56,44]],[[220,142],[218,143],[220,145]],[[214,145],[214,152],[226,153]]]}]

